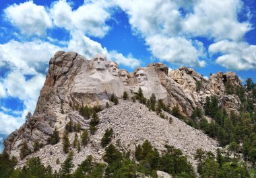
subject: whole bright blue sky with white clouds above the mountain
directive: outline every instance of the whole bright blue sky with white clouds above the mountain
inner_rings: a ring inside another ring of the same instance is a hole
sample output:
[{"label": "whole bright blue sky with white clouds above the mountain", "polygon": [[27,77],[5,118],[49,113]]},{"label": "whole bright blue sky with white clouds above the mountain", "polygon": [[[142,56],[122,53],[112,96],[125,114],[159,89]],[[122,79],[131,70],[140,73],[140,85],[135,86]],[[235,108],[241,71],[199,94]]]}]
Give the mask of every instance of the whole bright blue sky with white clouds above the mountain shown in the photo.
[{"label": "whole bright blue sky with white clouds above the mountain", "polygon": [[0,9],[0,145],[34,112],[57,50],[102,52],[128,71],[163,62],[256,82],[256,1],[1,0]]}]

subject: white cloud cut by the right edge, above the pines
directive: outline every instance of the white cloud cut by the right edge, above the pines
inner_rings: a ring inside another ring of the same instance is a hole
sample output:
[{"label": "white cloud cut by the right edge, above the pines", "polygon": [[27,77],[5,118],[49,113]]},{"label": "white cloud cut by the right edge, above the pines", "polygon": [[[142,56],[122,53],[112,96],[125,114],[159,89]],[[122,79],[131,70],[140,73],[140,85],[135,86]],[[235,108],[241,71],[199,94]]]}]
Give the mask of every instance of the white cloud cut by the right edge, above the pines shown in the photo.
[{"label": "white cloud cut by the right edge, above the pines", "polygon": [[210,45],[211,54],[220,54],[216,62],[227,69],[256,69],[256,45],[247,42],[230,42],[222,40]]}]

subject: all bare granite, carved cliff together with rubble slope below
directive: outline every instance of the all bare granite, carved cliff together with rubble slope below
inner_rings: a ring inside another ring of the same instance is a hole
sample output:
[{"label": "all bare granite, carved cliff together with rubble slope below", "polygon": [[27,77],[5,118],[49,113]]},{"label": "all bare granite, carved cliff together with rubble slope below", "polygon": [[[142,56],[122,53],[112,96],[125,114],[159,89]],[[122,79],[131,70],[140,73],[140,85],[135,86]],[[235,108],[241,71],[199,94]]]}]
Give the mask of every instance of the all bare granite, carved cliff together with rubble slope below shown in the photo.
[{"label": "all bare granite, carved cliff together with rubble slope below", "polygon": [[[154,93],[156,99],[162,99],[170,108],[178,104],[183,114],[187,116],[191,115],[195,107],[203,107],[205,98],[212,95],[217,95],[228,111],[236,110],[241,101],[236,95],[225,95],[226,83],[241,86],[238,77],[230,72],[213,74],[209,80],[206,80],[193,69],[181,67],[168,71],[166,65],[154,63],[128,73],[125,70],[119,70],[117,63],[108,61],[102,54],[97,54],[92,60],[88,60],[75,52],[59,51],[49,62],[49,72],[40,91],[34,114],[19,130],[11,133],[5,140],[5,151],[19,158],[22,142],[27,142],[28,147],[33,151],[34,142],[38,140],[45,146],[40,152],[32,155],[40,154],[42,157],[49,157],[45,152],[47,149],[53,149],[57,152],[55,157],[59,157],[63,153],[61,148],[57,147],[58,144],[55,147],[47,145],[47,139],[53,134],[55,128],[59,130],[60,136],[70,120],[81,124],[82,129],[89,128],[90,121],[80,116],[75,111],[76,107],[100,105],[104,108],[106,102],[111,105],[109,100],[113,93],[119,98],[124,91],[127,91],[129,96],[133,96],[139,87],[147,98]],[[202,147],[212,151],[216,149],[215,140],[176,118],[174,118],[174,124],[168,124],[156,114],[152,114],[146,108],[143,109],[144,106],[139,103],[122,101],[120,105],[100,112],[99,129],[96,135],[92,136],[92,142],[88,148],[84,148],[83,158],[87,153],[99,157],[103,151],[99,140],[109,126],[118,134],[117,138],[127,150],[134,150],[135,144],[148,139],[158,150],[162,150],[166,143],[181,148],[193,161],[192,155],[196,148]],[[123,108],[127,109],[123,110]],[[123,112],[120,113],[120,111]],[[123,128],[122,124],[129,127]],[[150,134],[152,132],[146,132],[143,129],[156,133],[152,135]],[[131,132],[138,133],[130,135]],[[82,156],[77,154],[77,157]],[[51,164],[51,160],[44,163]]]}]

